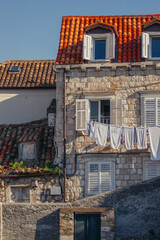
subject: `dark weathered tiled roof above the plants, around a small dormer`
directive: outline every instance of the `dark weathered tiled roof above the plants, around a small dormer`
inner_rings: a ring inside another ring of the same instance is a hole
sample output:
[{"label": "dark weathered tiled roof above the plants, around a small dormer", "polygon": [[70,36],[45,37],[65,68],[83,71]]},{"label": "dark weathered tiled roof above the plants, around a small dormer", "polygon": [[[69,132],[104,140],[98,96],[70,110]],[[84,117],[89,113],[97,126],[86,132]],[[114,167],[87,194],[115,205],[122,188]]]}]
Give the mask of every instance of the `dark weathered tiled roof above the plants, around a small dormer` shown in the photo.
[{"label": "dark weathered tiled roof above the plants, around a small dormer", "polygon": [[40,141],[39,165],[54,159],[54,128],[48,119],[18,125],[0,125],[0,165],[9,165],[18,159],[18,143]]}]

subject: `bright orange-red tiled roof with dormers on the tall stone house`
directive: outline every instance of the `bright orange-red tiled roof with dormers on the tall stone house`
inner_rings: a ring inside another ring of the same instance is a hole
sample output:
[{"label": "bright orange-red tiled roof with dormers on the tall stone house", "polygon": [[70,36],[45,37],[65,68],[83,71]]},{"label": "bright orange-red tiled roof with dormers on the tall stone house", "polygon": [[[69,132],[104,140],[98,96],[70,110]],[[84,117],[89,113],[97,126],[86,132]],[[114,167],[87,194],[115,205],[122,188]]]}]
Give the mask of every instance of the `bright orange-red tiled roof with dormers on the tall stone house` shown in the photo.
[{"label": "bright orange-red tiled roof with dormers on the tall stone house", "polygon": [[113,26],[118,32],[117,62],[142,61],[141,32],[142,26],[155,15],[124,15],[124,16],[64,16],[62,17],[59,50],[56,64],[79,64],[82,59],[82,41],[85,28],[97,23]]}]

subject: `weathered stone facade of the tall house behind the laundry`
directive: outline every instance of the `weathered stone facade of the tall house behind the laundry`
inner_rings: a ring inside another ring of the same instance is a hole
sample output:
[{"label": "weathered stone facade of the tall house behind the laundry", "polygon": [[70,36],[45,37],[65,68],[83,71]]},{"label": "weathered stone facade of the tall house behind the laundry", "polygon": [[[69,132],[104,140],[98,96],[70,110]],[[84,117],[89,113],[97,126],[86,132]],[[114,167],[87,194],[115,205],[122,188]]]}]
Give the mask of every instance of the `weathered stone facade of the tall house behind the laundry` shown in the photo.
[{"label": "weathered stone facade of the tall house behind the laundry", "polygon": [[[85,132],[76,131],[76,99],[87,95],[122,99],[123,126],[141,125],[141,96],[143,93],[160,93],[160,64],[141,63],[92,63],[83,65],[59,65],[57,68],[57,115],[55,142],[57,158],[63,160],[63,72],[66,72],[66,153],[67,153],[67,199],[76,200],[87,194],[86,162],[101,159],[115,165],[115,188],[128,186],[145,179],[144,165],[150,159],[150,149],[127,151],[124,144],[119,150],[97,146]],[[76,154],[83,156],[77,157]],[[87,153],[87,155],[85,155]],[[89,159],[89,153],[92,153]],[[93,154],[95,153],[95,154]],[[103,156],[98,156],[104,153]],[[76,167],[76,168],[75,168]],[[76,170],[76,171],[75,171]],[[73,176],[70,176],[73,175]]]}]

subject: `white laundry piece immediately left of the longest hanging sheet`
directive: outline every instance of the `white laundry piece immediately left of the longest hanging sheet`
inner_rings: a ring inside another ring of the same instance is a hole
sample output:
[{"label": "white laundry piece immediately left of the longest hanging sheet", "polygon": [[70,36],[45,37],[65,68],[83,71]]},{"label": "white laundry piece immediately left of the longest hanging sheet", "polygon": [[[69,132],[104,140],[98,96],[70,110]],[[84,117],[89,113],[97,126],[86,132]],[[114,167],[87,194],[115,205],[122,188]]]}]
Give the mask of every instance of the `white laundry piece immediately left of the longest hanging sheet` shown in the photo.
[{"label": "white laundry piece immediately left of the longest hanging sheet", "polygon": [[147,131],[144,127],[136,127],[136,141],[138,149],[147,148]]}]

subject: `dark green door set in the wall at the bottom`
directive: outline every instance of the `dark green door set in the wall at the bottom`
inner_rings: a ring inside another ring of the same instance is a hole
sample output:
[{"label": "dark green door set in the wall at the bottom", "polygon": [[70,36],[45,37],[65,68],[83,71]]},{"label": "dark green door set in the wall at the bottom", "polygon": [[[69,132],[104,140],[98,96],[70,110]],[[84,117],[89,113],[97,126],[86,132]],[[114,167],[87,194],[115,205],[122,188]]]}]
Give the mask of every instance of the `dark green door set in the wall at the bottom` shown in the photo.
[{"label": "dark green door set in the wall at the bottom", "polygon": [[100,240],[100,214],[74,216],[74,240]]}]

